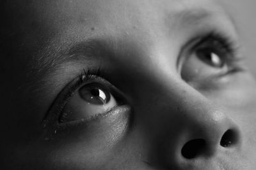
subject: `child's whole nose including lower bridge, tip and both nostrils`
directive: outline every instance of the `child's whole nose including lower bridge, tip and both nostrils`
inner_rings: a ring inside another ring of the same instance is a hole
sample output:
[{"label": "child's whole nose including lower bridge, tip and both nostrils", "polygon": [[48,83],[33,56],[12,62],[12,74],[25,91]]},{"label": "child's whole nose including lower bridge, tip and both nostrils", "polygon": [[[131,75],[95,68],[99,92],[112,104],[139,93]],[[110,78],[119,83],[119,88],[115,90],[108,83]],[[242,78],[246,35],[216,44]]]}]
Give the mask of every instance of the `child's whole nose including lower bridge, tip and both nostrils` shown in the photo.
[{"label": "child's whole nose including lower bridge, tip and both nostrils", "polygon": [[160,145],[161,159],[168,167],[204,169],[218,156],[228,157],[239,150],[239,127],[224,111],[199,93],[183,92],[174,96],[176,109],[169,110],[172,117],[164,123],[168,132],[164,133]]}]

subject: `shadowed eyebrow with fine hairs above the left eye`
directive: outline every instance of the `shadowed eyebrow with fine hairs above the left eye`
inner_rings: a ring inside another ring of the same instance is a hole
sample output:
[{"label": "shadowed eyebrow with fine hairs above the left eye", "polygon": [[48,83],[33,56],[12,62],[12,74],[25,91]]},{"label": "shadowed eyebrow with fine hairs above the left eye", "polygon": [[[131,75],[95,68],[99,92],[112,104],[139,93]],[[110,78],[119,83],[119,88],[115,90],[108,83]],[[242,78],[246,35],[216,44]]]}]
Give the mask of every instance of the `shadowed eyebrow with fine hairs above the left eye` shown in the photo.
[{"label": "shadowed eyebrow with fine hairs above the left eye", "polygon": [[84,60],[88,63],[104,57],[113,55],[113,41],[111,39],[91,38],[84,41],[64,42],[58,47],[53,47],[49,43],[44,49],[38,53],[38,62],[40,72],[49,71],[58,68],[63,63]]}]

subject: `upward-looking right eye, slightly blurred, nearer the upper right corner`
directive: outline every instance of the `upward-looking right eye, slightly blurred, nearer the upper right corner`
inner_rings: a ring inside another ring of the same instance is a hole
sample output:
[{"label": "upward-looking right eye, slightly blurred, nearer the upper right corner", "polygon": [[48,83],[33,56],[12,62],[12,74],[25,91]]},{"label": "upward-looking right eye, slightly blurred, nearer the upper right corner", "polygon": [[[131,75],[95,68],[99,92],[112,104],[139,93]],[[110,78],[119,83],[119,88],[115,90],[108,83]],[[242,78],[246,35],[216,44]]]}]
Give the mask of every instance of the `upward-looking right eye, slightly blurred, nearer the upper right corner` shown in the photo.
[{"label": "upward-looking right eye, slightly blurred, nearer the upper right corner", "polygon": [[227,75],[235,69],[233,45],[225,38],[202,39],[181,61],[180,74],[185,81],[199,81]]}]

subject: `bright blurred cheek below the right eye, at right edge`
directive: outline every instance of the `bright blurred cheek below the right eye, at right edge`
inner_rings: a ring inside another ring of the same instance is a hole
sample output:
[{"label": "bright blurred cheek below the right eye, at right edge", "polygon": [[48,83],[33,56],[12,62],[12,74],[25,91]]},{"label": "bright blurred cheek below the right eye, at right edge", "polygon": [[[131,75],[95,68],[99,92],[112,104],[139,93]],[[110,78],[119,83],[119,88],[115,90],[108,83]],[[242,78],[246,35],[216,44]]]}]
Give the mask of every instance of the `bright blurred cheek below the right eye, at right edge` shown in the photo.
[{"label": "bright blurred cheek below the right eye, at right edge", "polygon": [[[216,89],[202,90],[202,94],[223,108],[244,113],[244,108],[255,106],[256,83],[248,73],[237,73],[223,80]],[[232,115],[231,115],[232,116]]]}]

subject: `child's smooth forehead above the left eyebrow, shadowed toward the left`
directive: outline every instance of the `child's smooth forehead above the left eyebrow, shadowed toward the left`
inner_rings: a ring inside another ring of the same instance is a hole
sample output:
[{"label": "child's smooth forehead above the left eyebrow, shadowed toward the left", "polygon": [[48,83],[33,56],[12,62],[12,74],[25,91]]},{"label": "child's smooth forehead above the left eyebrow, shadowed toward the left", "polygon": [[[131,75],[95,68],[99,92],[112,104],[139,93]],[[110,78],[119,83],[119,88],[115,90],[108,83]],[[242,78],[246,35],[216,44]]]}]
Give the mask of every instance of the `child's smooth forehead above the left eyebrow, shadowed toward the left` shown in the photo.
[{"label": "child's smooth forehead above the left eyebrow, shadowed toward the left", "polygon": [[52,47],[66,48],[92,37],[127,39],[129,35],[159,41],[187,25],[227,17],[220,6],[205,0],[7,1],[6,11],[11,22],[8,30],[19,35],[19,44],[29,50],[39,50],[49,42]]}]

